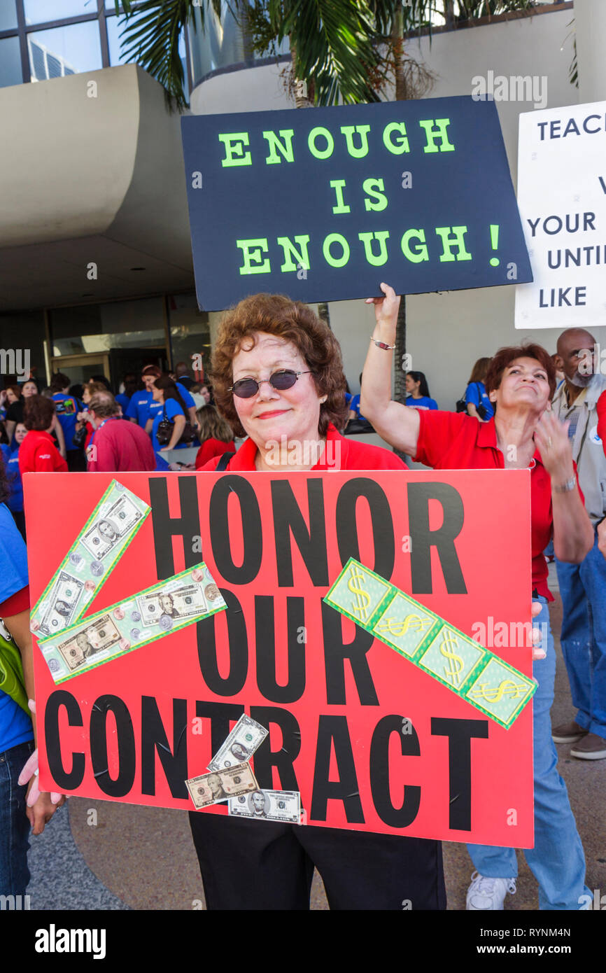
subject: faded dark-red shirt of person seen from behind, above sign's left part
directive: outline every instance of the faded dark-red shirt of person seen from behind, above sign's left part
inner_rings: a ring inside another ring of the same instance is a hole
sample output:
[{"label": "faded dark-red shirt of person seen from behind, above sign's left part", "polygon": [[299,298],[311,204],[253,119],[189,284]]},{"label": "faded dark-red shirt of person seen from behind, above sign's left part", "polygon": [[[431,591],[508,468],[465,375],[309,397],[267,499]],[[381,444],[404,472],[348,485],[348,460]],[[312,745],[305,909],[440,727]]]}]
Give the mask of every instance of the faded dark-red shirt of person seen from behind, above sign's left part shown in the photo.
[{"label": "faded dark-red shirt of person seen from behind, above sign's left part", "polygon": [[93,433],[89,456],[89,473],[151,473],[156,469],[147,433],[134,422],[113,416]]}]

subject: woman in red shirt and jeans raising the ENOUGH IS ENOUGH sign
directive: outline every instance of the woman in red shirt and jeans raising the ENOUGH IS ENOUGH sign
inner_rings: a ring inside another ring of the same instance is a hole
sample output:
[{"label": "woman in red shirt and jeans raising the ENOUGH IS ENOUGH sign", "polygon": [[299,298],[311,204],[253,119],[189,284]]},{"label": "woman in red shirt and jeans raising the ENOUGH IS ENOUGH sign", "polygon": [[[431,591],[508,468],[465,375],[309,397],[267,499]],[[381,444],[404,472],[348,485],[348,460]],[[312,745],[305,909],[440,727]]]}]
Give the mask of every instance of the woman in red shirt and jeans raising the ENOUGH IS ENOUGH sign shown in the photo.
[{"label": "woman in red shirt and jeans raising the ENOUGH IS ENOUGH sign", "polygon": [[[556,557],[579,563],[593,546],[568,424],[550,411],[553,361],[538,344],[501,348],[485,379],[496,408],[487,422],[465,414],[407,409],[389,397],[400,299],[387,284],[380,286],[384,297],[368,302],[374,304],[376,324],[363,373],[364,414],[386,442],[434,469],[530,469],[533,596],[544,603],[537,621],[549,626],[547,603],[552,595],[543,550],[553,534]],[[490,553],[486,569],[497,579],[499,570],[507,570],[499,564],[498,551]],[[538,681],[533,701],[535,847],[524,854],[539,883],[539,907],[578,910],[588,888],[583,847],[566,786],[556,770],[550,719],[555,675],[551,631],[547,656],[533,671]],[[472,845],[468,850],[477,872],[467,908],[503,909],[506,893],[516,891],[515,849]]]}]

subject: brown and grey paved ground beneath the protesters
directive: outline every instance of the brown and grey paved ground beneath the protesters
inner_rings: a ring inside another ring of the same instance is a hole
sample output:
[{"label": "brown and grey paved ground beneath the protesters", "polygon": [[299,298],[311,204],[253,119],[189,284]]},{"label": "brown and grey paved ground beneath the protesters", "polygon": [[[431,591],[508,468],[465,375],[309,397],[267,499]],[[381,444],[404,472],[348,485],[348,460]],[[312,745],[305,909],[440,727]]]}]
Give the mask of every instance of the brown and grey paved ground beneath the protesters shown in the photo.
[{"label": "brown and grey paved ground beneath the protesters", "polygon": [[[550,586],[552,627],[561,624],[561,601],[553,565]],[[568,680],[559,640],[555,638],[557,673],[553,723],[573,715]],[[559,772],[568,786],[571,804],[586,851],[588,887],[606,892],[606,761],[571,758],[569,746],[559,746]],[[448,909],[465,909],[465,892],[472,864],[463,845],[444,846]],[[518,853],[517,894],[507,909],[538,908],[536,883],[523,854]],[[203,890],[188,815],[183,811],[139,808],[133,805],[71,798],[53,817],[45,833],[32,840],[32,909],[177,909],[203,908]],[[327,910],[324,889],[316,875],[313,910]]]}]

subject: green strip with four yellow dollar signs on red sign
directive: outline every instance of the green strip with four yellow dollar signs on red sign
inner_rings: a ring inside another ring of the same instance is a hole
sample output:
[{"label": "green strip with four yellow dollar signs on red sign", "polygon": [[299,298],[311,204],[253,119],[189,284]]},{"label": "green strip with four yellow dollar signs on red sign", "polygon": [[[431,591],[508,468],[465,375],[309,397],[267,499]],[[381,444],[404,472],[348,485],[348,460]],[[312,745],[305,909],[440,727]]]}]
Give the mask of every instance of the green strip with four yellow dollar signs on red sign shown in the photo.
[{"label": "green strip with four yellow dollar signs on red sign", "polygon": [[350,558],[324,598],[507,730],[537,684]]}]

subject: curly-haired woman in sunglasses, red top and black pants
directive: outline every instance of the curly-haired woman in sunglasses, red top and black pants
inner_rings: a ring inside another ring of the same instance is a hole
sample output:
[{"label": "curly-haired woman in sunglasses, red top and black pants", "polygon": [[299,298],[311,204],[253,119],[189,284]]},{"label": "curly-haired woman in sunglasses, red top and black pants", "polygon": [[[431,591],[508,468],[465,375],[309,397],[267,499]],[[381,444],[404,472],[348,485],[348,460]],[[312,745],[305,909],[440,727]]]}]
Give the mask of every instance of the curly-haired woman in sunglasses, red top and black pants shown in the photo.
[{"label": "curly-haired woman in sunglasses, red top and black pants", "polygon": [[[218,409],[248,437],[222,469],[406,469],[392,452],[339,435],[339,343],[303,304],[258,294],[228,311],[212,378]],[[407,899],[446,909],[439,842],[196,812],[190,822],[208,909],[306,910],[314,865],[331,909],[401,910]]]}]

